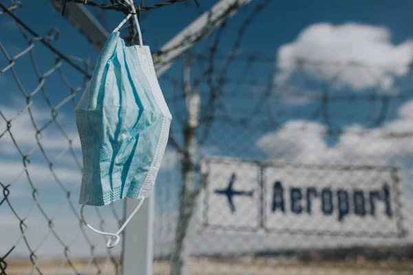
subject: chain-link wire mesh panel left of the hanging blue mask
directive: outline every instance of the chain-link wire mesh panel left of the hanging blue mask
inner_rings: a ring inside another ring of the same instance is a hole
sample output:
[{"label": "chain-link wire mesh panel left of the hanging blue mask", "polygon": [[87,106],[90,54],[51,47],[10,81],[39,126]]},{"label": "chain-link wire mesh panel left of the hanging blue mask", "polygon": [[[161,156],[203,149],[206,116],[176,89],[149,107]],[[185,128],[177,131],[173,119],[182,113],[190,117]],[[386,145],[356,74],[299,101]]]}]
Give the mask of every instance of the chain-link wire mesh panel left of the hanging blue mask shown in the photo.
[{"label": "chain-link wire mesh panel left of the hanging blue mask", "polygon": [[[7,8],[18,17],[22,5]],[[33,36],[4,10],[0,19],[0,274],[120,274],[121,245],[106,249],[107,238],[90,234],[78,214],[73,114],[92,65],[47,47],[59,30]],[[123,221],[119,203],[89,211],[100,230]]]}]

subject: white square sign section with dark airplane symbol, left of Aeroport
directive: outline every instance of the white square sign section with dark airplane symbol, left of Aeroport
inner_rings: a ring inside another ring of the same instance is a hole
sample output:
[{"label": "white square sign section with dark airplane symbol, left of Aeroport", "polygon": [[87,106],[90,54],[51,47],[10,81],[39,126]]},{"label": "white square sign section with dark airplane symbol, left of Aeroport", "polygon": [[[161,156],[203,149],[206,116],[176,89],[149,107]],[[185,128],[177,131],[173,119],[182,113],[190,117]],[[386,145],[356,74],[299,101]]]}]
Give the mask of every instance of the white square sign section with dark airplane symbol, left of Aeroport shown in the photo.
[{"label": "white square sign section with dark airplane symbol, left of Aeroport", "polygon": [[208,191],[204,194],[204,223],[209,228],[257,230],[260,203],[257,182],[260,166],[250,162],[208,162],[204,167]]}]

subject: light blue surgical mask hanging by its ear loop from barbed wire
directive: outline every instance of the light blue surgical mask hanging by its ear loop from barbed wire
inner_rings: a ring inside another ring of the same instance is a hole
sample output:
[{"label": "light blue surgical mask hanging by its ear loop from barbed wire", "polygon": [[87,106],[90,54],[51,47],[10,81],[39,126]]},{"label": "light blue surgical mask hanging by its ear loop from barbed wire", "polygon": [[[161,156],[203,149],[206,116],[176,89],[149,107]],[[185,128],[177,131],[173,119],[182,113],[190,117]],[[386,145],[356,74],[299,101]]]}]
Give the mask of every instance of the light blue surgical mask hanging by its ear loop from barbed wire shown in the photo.
[{"label": "light blue surgical mask hanging by its ear loop from barbed wire", "polygon": [[[103,47],[75,108],[83,155],[81,217],[89,229],[112,236],[108,248],[119,242],[120,232],[153,188],[172,119],[149,47],[142,46],[134,3],[129,1],[139,45],[127,47],[120,38],[118,30],[131,17],[128,14]],[[118,232],[102,232],[85,221],[85,205],[105,206],[125,197],[140,203]]]}]

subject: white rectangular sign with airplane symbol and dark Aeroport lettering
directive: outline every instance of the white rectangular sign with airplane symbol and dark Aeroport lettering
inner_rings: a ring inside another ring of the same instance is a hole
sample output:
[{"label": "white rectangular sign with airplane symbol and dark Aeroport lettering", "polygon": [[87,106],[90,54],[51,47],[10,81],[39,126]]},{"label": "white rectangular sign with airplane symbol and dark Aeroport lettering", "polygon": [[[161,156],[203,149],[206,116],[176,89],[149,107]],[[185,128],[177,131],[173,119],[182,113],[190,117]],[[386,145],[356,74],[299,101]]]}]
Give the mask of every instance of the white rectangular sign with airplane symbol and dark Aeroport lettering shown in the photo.
[{"label": "white rectangular sign with airplane symbol and dark Aeroport lettering", "polygon": [[204,228],[383,238],[404,234],[394,167],[212,158],[202,160],[202,173]]}]

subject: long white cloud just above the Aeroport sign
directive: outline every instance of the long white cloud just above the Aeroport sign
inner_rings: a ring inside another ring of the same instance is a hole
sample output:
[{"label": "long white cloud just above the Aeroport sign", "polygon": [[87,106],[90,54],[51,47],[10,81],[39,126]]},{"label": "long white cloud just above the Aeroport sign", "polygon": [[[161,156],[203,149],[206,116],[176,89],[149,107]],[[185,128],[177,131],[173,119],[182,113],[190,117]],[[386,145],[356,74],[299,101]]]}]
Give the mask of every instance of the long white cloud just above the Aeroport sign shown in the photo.
[{"label": "long white cloud just above the Aeroport sign", "polygon": [[[354,124],[344,128],[337,144],[329,146],[326,127],[318,122],[290,120],[278,131],[267,133],[257,146],[273,159],[299,163],[388,164],[396,157],[413,154],[413,100],[399,108],[399,118],[380,128]],[[391,138],[399,134],[399,137]]]}]

